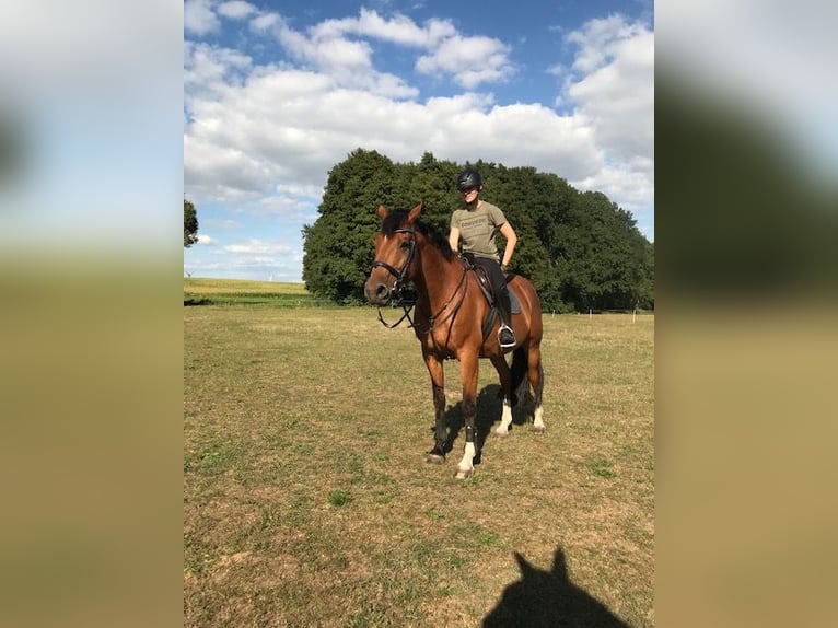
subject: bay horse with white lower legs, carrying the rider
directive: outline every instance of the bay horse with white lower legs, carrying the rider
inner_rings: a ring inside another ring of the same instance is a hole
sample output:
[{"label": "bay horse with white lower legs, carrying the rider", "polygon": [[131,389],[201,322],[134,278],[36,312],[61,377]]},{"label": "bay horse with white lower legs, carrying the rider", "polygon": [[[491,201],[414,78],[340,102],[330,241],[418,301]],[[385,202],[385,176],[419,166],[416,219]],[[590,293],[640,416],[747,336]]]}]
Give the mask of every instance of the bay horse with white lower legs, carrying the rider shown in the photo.
[{"label": "bay horse with white lower legs, carrying the rider", "polygon": [[[370,304],[381,307],[399,299],[407,282],[412,282],[416,289],[412,326],[431,376],[435,416],[434,444],[427,454],[428,463],[445,462],[447,426],[443,361],[456,359],[459,362],[466,441],[455,477],[464,479],[474,473],[474,460],[479,453],[475,445],[475,419],[481,358],[488,358],[498,372],[503,396],[501,421],[494,434],[509,434],[512,406],[517,400],[515,392],[529,392],[529,386],[533,399],[531,429],[536,433],[545,431],[542,305],[527,279],[507,275],[510,296],[520,303],[520,309],[513,306],[512,313],[512,329],[517,342],[513,348],[502,350],[497,339],[500,323],[493,316],[491,326],[488,325],[489,316],[494,313],[476,270],[465,257],[452,251],[446,239],[418,220],[421,211],[421,202],[409,211],[389,211],[383,205],[379,206],[376,212],[382,224],[375,234],[375,259],[364,283],[364,295]],[[511,367],[505,357],[510,351]]]}]

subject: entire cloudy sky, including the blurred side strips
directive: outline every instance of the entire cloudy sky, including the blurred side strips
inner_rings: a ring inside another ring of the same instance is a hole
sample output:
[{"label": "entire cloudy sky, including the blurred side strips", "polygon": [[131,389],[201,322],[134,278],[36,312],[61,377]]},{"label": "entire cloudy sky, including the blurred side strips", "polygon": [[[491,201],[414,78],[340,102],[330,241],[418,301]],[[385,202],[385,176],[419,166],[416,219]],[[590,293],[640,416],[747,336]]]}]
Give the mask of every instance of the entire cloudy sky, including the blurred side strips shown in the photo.
[{"label": "entire cloudy sky, including the blurred side strips", "polygon": [[804,185],[838,182],[838,3],[309,4],[8,3],[0,125],[22,150],[0,167],[0,251],[298,280],[300,229],[357,148],[532,165],[652,240],[655,58],[657,80],[668,65],[779,129]]}]

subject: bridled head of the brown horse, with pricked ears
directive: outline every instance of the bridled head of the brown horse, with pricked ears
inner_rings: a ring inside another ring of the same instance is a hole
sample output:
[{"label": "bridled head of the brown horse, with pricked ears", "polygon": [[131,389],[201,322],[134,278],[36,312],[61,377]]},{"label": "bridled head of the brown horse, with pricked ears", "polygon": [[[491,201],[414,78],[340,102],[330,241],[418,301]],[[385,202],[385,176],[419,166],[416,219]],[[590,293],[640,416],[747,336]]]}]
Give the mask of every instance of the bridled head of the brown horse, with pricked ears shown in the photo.
[{"label": "bridled head of the brown horse, with pricked ears", "polygon": [[382,226],[375,234],[375,261],[363,292],[373,305],[386,305],[397,295],[416,259],[416,230],[414,223],[422,211],[420,202],[410,211],[388,211],[379,206]]}]

